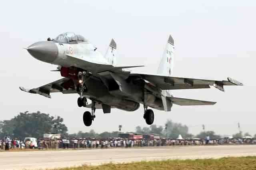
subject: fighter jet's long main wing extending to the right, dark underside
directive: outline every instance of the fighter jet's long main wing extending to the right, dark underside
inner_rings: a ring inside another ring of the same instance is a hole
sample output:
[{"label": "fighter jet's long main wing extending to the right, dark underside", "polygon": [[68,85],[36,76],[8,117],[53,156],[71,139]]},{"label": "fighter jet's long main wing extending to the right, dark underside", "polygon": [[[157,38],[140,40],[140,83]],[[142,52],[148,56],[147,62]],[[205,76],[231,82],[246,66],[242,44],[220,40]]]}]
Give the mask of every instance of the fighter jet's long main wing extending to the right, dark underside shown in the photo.
[{"label": "fighter jet's long main wing extending to the right, dark underside", "polygon": [[228,77],[228,80],[205,80],[195,78],[169,77],[150,74],[130,74],[130,76],[138,76],[154,86],[162,90],[178,90],[178,89],[198,89],[210,88],[214,86],[218,90],[224,92],[223,86],[243,86],[242,83]]}]

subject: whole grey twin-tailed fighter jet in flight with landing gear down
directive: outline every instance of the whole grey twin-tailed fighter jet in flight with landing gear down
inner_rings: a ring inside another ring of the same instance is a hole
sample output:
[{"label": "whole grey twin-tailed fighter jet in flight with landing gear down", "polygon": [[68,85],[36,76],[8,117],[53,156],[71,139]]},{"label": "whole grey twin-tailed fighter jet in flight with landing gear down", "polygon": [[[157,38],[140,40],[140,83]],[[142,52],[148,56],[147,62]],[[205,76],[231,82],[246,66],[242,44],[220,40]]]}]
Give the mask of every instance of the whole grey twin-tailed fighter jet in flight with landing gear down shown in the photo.
[{"label": "whole grey twin-tailed fighter jet in flight with landing gear down", "polygon": [[[110,113],[112,108],[135,111],[144,106],[143,118],[148,125],[154,122],[154,112],[148,107],[171,111],[172,105],[196,106],[214,105],[216,102],[176,98],[170,90],[215,88],[224,92],[224,85],[242,86],[243,84],[228,78],[222,80],[204,80],[172,77],[174,59],[174,39],[170,35],[164,49],[157,74],[134,74],[124,68],[140,66],[116,66],[116,42],[112,39],[103,56],[97,48],[82,35],[72,32],[60,34],[56,39],[48,38],[26,48],[34,58],[58,65],[57,70],[64,78],[44,86],[20,90],[40,94],[51,98],[50,93],[79,94],[79,107],[88,107],[85,111],[84,125],[90,126],[95,119],[95,110],[102,109]],[[88,104],[87,99],[92,102]]]}]

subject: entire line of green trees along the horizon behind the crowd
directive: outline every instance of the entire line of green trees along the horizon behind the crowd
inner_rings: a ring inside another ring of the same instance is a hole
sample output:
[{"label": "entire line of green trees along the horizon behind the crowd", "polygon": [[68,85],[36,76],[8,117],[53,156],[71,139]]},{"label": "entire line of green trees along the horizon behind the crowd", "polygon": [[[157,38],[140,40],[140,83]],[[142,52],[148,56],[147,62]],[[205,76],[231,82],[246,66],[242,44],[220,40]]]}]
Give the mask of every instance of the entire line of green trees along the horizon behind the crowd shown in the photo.
[{"label": "entire line of green trees along the horizon behind the crowd", "polygon": [[[95,137],[95,138],[108,138],[118,137],[120,131],[105,131],[103,133],[96,133],[93,129],[89,132],[78,131],[78,133],[68,134],[68,128],[63,123],[64,119],[60,116],[53,117],[47,113],[41,113],[40,111],[29,113],[28,111],[21,112],[10,120],[0,121],[0,139],[5,135],[10,137],[16,137],[24,139],[25,137],[43,137],[43,134],[60,133],[62,137]],[[198,135],[192,135],[189,133],[189,128],[181,123],[175,123],[172,120],[167,120],[165,125],[150,125],[149,127],[136,126],[135,133],[141,134],[158,134],[162,138],[176,139],[178,135],[182,135],[183,138],[205,138],[209,136],[211,139],[218,139],[220,135],[217,135],[214,131],[202,131]],[[129,133],[129,132],[126,132]],[[130,132],[132,133],[132,132]],[[236,138],[242,138],[244,136],[251,136],[249,133],[243,135],[242,131],[233,135]],[[254,136],[256,137],[256,135]]]}]

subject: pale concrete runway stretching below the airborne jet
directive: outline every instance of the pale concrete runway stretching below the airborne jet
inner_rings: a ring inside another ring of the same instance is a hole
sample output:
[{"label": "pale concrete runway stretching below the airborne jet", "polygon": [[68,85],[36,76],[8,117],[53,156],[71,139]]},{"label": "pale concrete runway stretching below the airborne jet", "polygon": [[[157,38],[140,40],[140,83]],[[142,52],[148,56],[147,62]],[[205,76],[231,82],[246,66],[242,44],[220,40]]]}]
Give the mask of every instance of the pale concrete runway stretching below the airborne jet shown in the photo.
[{"label": "pale concrete runway stretching below the airborne jet", "polygon": [[256,156],[256,145],[0,152],[0,169],[44,169],[107,162],[224,156]]}]

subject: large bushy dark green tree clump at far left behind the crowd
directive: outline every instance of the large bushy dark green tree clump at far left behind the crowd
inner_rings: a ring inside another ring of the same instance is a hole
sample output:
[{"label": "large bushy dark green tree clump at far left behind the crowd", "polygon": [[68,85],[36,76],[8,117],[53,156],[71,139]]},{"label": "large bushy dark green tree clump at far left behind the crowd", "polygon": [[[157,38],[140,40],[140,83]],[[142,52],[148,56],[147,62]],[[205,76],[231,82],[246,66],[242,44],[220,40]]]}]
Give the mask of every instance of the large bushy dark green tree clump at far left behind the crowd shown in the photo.
[{"label": "large bushy dark green tree clump at far left behind the crowd", "polygon": [[[56,131],[58,129],[58,131]],[[68,135],[68,128],[60,116],[54,118],[46,113],[37,111],[29,113],[21,112],[10,120],[0,121],[0,139],[5,135],[24,139],[25,137],[42,137],[44,133],[61,133]]]}]

